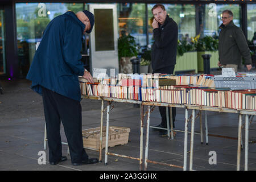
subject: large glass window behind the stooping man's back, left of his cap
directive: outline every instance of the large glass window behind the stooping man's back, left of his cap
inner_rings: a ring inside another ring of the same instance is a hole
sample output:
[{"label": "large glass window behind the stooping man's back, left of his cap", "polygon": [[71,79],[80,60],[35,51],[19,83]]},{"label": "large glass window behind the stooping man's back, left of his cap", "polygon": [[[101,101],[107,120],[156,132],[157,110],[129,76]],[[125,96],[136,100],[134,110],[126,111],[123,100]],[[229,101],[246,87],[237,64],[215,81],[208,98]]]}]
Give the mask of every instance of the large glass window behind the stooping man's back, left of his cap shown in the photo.
[{"label": "large glass window behind the stooping man's back, left of his cap", "polygon": [[84,3],[16,3],[16,24],[20,75],[26,76],[47,24],[68,10],[77,13]]}]

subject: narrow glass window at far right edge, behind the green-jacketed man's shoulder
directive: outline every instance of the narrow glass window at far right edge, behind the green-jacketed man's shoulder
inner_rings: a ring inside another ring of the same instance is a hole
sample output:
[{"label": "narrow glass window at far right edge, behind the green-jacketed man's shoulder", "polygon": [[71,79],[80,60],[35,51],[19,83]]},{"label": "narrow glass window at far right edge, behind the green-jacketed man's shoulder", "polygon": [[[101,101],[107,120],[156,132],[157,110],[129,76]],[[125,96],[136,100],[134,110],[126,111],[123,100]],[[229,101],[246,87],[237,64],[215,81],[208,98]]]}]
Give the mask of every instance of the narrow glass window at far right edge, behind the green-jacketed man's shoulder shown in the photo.
[{"label": "narrow glass window at far right edge, behind the green-jacketed man's shoulder", "polygon": [[247,5],[247,37],[256,45],[256,5]]}]

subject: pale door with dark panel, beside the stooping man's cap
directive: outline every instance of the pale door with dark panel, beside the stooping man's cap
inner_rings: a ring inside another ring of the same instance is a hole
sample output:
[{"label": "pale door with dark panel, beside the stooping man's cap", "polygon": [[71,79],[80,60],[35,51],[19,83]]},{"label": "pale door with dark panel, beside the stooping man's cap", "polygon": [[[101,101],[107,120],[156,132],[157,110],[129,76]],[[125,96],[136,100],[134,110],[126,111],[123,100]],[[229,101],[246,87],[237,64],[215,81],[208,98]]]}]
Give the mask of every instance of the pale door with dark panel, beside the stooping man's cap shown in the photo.
[{"label": "pale door with dark panel, beside the stooping man's cap", "polygon": [[118,24],[116,4],[92,4],[89,10],[94,14],[95,23],[90,34],[90,71],[93,68],[115,69],[118,74]]}]

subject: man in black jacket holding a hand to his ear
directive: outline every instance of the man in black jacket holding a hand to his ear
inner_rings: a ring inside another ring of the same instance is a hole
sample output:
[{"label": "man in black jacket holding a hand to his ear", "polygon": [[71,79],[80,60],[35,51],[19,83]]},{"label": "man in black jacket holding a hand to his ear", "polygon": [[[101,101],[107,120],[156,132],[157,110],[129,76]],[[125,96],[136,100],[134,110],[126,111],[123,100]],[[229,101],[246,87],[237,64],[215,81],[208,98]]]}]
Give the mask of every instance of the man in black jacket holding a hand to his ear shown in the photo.
[{"label": "man in black jacket holding a hand to his ear", "polygon": [[[154,28],[154,44],[152,46],[153,73],[174,73],[177,53],[177,23],[167,15],[163,5],[155,5],[151,10],[154,15],[152,27]],[[167,128],[166,107],[159,106],[162,122],[157,127]],[[170,116],[170,113],[169,113]],[[172,119],[175,121],[176,108],[172,107]],[[169,119],[171,121],[171,119]],[[160,131],[160,135],[167,131]]]}]

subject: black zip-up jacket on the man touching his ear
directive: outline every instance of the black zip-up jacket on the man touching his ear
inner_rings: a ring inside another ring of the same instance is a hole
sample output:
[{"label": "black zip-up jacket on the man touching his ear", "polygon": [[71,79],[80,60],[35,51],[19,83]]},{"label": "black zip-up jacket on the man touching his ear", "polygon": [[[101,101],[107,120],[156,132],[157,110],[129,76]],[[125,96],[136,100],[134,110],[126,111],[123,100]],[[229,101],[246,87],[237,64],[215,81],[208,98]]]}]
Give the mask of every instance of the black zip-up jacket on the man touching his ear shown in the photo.
[{"label": "black zip-up jacket on the man touching his ear", "polygon": [[[158,23],[159,24],[159,23]],[[177,23],[168,15],[163,25],[155,28],[152,46],[151,63],[154,71],[176,64]]]}]

